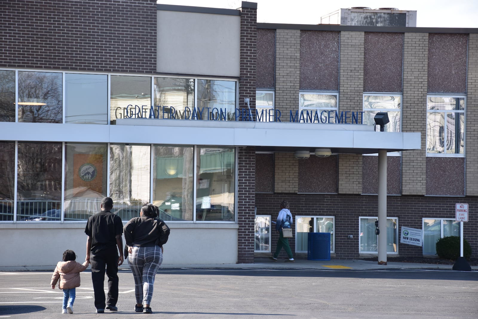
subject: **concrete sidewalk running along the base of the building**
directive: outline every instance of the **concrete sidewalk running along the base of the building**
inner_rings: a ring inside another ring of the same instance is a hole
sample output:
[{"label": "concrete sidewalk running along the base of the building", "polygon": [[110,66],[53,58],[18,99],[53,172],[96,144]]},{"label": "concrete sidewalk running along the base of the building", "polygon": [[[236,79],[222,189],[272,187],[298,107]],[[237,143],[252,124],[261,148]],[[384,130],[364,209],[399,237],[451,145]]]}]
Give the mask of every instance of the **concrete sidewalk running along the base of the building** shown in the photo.
[{"label": "concrete sidewalk running along the base of the building", "polygon": [[[9,271],[53,271],[55,265],[50,266],[14,266],[0,267],[0,272]],[[89,268],[89,267],[88,267]],[[255,258],[254,264],[162,264],[163,269],[175,268],[304,268],[304,269],[355,269],[355,270],[382,270],[382,269],[441,269],[452,270],[453,265],[447,264],[416,264],[416,263],[392,263],[379,265],[375,261],[366,261],[361,259],[349,260],[306,260],[296,259],[295,263],[285,263],[284,259],[277,262],[269,258]],[[130,269],[129,264],[125,262],[120,269]],[[471,270],[478,270],[478,266],[471,266]]]}]

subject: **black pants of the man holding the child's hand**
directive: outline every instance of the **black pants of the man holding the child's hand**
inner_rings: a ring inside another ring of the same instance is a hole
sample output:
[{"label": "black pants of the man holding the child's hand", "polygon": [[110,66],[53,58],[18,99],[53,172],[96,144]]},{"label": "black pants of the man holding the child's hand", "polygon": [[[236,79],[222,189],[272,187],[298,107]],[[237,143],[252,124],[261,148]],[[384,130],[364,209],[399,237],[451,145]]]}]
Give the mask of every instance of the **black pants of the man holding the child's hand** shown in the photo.
[{"label": "black pants of the man holding the child's hand", "polygon": [[[116,246],[90,253],[91,279],[97,309],[105,309],[106,305],[116,306],[118,302],[118,258]],[[105,298],[105,272],[108,276],[108,299]]]}]

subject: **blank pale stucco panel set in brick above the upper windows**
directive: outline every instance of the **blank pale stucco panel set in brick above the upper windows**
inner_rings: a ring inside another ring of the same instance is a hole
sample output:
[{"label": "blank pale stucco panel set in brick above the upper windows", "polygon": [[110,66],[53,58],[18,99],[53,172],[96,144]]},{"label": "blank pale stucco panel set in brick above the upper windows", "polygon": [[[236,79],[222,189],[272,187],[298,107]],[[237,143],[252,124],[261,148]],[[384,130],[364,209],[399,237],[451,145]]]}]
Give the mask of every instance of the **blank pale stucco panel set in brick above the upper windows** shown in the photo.
[{"label": "blank pale stucco panel set in brick above the upper windows", "polygon": [[158,11],[159,73],[239,77],[240,17]]}]

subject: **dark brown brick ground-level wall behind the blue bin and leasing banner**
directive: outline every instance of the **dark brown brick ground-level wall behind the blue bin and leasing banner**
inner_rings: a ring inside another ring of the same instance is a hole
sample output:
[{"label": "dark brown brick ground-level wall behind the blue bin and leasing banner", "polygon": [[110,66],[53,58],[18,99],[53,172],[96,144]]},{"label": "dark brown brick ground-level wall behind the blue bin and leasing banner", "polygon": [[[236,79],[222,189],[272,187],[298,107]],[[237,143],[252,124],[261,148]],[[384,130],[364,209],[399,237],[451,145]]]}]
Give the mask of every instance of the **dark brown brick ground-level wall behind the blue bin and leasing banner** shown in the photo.
[{"label": "dark brown brick ground-level wall behind the blue bin and leasing banner", "polygon": [[[357,259],[366,257],[359,253],[359,217],[377,216],[377,196],[332,195],[332,194],[256,194],[258,214],[276,216],[278,203],[287,199],[295,218],[303,216],[335,216],[335,254],[332,259]],[[478,207],[478,197],[456,198],[435,196],[389,196],[387,216],[398,217],[398,230],[404,227],[423,229],[423,218],[446,218],[455,220],[455,204],[467,203],[470,208]],[[463,223],[464,233],[471,245],[472,256],[478,252],[478,214],[470,209],[468,222]],[[353,238],[348,238],[353,235]],[[272,232],[272,251],[275,249],[277,234]],[[295,253],[295,238],[291,243],[294,258],[306,259],[307,253]],[[401,257],[423,256],[423,248],[400,243]],[[255,254],[258,255],[257,253]],[[285,258],[283,253],[279,258]],[[390,256],[390,255],[389,255]]]}]

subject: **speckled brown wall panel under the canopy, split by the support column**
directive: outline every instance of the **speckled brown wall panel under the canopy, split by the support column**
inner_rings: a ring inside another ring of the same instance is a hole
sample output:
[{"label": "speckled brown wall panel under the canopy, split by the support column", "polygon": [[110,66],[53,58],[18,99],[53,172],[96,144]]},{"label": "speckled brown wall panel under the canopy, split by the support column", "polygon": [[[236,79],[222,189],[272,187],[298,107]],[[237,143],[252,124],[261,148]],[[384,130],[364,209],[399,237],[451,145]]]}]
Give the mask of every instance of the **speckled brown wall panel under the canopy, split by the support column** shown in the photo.
[{"label": "speckled brown wall panel under the canopy, split by the support column", "polygon": [[[379,192],[379,157],[363,156],[362,194]],[[402,194],[402,157],[387,156],[387,194]]]}]

